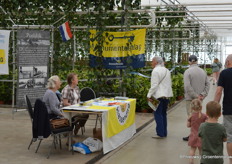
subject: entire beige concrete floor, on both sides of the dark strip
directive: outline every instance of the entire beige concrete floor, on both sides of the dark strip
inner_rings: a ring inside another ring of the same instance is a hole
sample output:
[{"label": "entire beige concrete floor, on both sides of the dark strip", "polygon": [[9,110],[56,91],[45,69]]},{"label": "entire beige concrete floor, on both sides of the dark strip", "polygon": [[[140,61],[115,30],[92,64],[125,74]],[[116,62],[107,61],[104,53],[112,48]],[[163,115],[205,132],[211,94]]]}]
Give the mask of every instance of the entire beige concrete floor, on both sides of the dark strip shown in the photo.
[{"label": "entire beige concrete floor, on both sides of the dark strip", "polygon": [[[213,100],[216,86],[211,85],[208,97],[203,103]],[[12,119],[12,110],[0,108],[0,164],[64,164],[64,163],[93,163],[91,159],[97,157],[101,152],[83,155],[80,153],[71,154],[65,146],[63,149],[53,149],[50,159],[46,158],[51,138],[42,141],[38,153],[35,152],[37,143],[27,150],[31,139],[31,122],[26,111],[16,112]],[[139,128],[153,118],[152,114],[137,113],[136,127]],[[189,134],[186,127],[186,111],[184,101],[178,103],[168,112],[168,137],[163,140],[151,138],[155,133],[155,122],[151,122],[140,130],[124,145],[108,153],[96,163],[102,164],[186,164],[189,147],[182,137]],[[222,117],[219,119],[222,122]],[[92,136],[93,120],[88,120],[84,136],[78,135],[76,141],[82,141],[87,136]],[[224,144],[224,155],[227,155]],[[199,159],[195,160],[199,163]],[[228,164],[228,159],[224,160]]]}]

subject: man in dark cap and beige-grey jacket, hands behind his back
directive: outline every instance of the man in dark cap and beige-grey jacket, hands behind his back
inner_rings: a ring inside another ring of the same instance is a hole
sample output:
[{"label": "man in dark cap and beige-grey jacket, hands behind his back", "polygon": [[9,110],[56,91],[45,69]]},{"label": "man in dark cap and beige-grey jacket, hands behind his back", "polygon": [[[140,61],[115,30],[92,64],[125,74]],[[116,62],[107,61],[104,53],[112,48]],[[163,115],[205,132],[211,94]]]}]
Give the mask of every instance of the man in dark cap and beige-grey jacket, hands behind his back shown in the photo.
[{"label": "man in dark cap and beige-grey jacket, hands behind his back", "polygon": [[[197,57],[189,56],[190,67],[184,72],[184,91],[186,111],[188,117],[191,115],[190,103],[193,99],[203,99],[208,95],[210,83],[206,72],[197,65]],[[188,141],[189,137],[183,137]]]}]

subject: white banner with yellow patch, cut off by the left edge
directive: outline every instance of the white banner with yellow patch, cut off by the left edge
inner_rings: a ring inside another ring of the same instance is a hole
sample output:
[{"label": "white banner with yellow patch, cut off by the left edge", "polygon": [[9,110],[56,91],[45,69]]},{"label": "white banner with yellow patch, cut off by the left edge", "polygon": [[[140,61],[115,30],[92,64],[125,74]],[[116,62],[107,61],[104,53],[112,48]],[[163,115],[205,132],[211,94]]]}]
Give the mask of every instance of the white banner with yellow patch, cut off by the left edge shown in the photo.
[{"label": "white banner with yellow patch, cut off by the left edge", "polygon": [[9,74],[8,49],[10,31],[0,30],[0,75]]}]

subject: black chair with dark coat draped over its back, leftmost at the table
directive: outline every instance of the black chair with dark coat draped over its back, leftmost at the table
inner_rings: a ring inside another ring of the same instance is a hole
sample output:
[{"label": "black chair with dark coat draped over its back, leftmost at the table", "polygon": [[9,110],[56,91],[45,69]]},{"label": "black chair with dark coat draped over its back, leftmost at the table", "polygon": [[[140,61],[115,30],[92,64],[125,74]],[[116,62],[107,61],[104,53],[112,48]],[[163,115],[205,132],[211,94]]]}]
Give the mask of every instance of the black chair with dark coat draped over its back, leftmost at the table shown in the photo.
[{"label": "black chair with dark coat draped over its back, leftmost at the table", "polygon": [[[59,129],[52,129],[50,126],[50,120],[48,117],[47,108],[46,108],[44,102],[42,102],[41,99],[37,99],[35,102],[35,107],[34,107],[34,111],[33,111],[32,105],[31,105],[30,100],[29,100],[27,95],[25,95],[25,100],[26,100],[27,107],[28,107],[28,113],[31,117],[32,132],[33,132],[33,137],[32,137],[32,140],[31,140],[29,146],[28,146],[28,149],[30,148],[32,142],[35,142],[42,135],[42,138],[39,139],[39,144],[38,144],[36,151],[35,151],[35,153],[37,153],[42,140],[44,138],[47,138],[51,134],[51,136],[53,137],[53,141],[52,141],[52,144],[50,146],[50,150],[49,150],[49,153],[47,156],[47,158],[49,158],[50,154],[51,154],[52,145],[54,145],[54,147],[56,149],[56,144],[59,142],[60,149],[62,149],[62,147],[61,147],[62,135],[65,136],[65,134],[69,133],[70,138],[72,140],[72,127],[68,126],[68,127],[62,127]],[[42,114],[41,114],[41,112],[42,112]],[[43,133],[41,133],[41,131],[42,131],[41,126],[42,126],[42,128],[43,127],[46,128],[45,132],[43,132]],[[43,136],[44,136],[44,138],[43,138]],[[72,153],[73,153],[73,151],[72,151]]]}]

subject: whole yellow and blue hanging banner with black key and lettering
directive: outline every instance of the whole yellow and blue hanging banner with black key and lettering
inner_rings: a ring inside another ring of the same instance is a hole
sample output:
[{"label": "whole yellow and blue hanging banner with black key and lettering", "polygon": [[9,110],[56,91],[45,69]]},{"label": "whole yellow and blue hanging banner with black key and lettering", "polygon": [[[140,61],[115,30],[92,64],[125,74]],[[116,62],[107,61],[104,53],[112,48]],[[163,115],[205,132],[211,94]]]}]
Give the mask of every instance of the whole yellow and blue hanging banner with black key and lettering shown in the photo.
[{"label": "whole yellow and blue hanging banner with black key and lettering", "polygon": [[105,41],[101,47],[102,56],[96,53],[98,34],[90,30],[90,66],[103,65],[108,69],[141,68],[145,66],[146,29],[104,32]]}]

